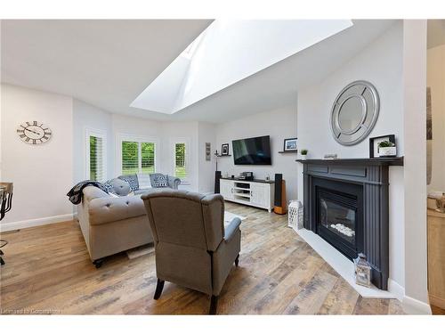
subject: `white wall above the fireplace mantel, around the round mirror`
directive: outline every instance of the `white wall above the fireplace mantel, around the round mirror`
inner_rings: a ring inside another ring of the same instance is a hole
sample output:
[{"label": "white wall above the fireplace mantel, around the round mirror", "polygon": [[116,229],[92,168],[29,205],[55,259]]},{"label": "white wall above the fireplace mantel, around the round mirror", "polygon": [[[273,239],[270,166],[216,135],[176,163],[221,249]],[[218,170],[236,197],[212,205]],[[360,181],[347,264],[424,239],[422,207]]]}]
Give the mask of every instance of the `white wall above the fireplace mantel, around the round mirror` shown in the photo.
[{"label": "white wall above the fireplace mantel, around the round mirror", "polygon": [[398,153],[403,155],[402,33],[398,22],[323,82],[298,92],[299,146],[309,150],[310,158],[323,158],[326,153],[336,153],[338,158],[368,158],[368,138],[357,145],[343,146],[333,139],[329,123],[336,95],[360,79],[376,86],[380,96],[380,115],[369,136],[395,134]]}]

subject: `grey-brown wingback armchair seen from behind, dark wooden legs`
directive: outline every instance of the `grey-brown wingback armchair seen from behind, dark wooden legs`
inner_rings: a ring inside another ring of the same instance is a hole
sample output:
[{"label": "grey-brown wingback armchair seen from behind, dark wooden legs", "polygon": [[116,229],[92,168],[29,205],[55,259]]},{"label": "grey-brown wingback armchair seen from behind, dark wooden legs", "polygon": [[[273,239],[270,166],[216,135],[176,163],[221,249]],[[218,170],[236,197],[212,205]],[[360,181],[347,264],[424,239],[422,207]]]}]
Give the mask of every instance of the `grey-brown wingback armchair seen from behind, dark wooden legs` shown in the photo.
[{"label": "grey-brown wingback armchair seen from behind, dark wooden legs", "polygon": [[155,242],[158,285],[155,299],[170,281],[211,296],[209,314],[241,248],[239,218],[224,229],[220,194],[152,189],[142,195]]}]

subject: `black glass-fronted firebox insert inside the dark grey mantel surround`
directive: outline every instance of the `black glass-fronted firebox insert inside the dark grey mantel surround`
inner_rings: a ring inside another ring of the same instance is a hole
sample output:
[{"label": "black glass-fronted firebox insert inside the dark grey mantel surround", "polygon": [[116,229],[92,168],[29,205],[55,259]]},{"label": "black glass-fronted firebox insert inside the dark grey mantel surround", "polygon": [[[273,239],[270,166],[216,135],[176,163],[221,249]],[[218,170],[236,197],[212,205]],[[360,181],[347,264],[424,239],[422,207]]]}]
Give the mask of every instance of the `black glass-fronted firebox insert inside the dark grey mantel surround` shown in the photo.
[{"label": "black glass-fronted firebox insert inside the dark grey mantel surround", "polygon": [[316,232],[344,256],[363,251],[363,187],[322,178],[312,183]]}]

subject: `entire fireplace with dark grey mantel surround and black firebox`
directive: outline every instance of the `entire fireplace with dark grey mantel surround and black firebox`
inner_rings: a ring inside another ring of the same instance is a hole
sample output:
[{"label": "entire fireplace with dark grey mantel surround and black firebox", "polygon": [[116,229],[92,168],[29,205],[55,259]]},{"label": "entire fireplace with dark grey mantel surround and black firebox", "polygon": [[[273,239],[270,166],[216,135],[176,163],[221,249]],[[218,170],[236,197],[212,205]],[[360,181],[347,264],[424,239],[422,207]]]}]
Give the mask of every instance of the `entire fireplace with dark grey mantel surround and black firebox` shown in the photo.
[{"label": "entire fireplace with dark grey mantel surround and black firebox", "polygon": [[364,253],[372,283],[387,289],[388,170],[403,166],[403,158],[297,161],[303,164],[304,228],[351,260]]}]

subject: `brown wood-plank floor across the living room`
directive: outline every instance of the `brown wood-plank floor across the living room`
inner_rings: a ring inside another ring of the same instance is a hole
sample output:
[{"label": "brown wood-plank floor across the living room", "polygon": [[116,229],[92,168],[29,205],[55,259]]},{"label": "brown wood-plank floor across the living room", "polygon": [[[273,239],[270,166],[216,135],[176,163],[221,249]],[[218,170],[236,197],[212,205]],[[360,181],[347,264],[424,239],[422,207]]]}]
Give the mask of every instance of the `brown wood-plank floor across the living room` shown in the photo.
[{"label": "brown wood-plank floor across the living room", "polygon": [[[395,299],[362,298],[287,227],[287,216],[227,203],[241,224],[239,267],[218,314],[403,314]],[[110,257],[91,264],[77,222],[2,235],[2,314],[206,314],[210,298],[166,282],[156,288],[155,257]]]}]

